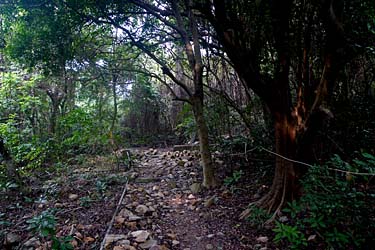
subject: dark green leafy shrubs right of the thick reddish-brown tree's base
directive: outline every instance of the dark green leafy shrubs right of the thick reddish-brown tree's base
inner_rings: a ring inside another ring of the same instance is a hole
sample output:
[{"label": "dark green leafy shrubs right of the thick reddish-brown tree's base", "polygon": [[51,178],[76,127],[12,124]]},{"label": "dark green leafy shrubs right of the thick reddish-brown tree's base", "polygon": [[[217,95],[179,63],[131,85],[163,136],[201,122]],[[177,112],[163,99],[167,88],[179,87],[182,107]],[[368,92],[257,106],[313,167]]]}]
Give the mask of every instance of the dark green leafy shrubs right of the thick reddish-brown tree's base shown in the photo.
[{"label": "dark green leafy shrubs right of the thick reddish-brown tree's base", "polygon": [[336,155],[327,164],[310,168],[302,181],[304,195],[284,209],[291,220],[276,224],[275,241],[301,248],[305,246],[303,239],[318,235],[333,249],[371,245],[375,192],[371,175],[353,174],[356,172],[375,173],[375,157],[363,153],[349,163]]}]

